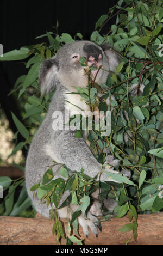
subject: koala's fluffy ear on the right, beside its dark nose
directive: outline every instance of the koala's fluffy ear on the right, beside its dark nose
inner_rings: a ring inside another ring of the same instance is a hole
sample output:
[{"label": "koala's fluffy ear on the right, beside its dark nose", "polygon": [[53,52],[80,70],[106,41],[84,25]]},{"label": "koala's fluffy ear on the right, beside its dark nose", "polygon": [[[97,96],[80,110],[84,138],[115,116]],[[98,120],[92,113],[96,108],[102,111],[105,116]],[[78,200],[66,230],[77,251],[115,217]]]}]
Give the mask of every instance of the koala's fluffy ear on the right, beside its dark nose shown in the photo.
[{"label": "koala's fluffy ear on the right, beside its dark nose", "polygon": [[114,47],[110,46],[107,43],[101,44],[100,46],[102,47],[106,57],[108,58],[110,71],[115,72],[118,64],[120,64],[120,62],[122,61],[120,53],[118,53]]}]

